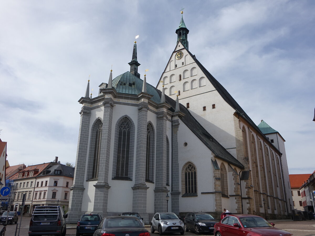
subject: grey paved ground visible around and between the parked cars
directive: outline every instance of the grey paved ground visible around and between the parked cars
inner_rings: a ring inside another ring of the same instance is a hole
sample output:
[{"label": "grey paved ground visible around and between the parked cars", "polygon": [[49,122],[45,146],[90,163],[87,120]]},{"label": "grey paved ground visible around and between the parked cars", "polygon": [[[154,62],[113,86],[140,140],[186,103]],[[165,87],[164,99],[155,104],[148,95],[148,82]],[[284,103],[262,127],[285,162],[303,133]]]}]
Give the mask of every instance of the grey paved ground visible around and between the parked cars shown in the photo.
[{"label": "grey paved ground visible around and between the parked cars", "polygon": [[[30,223],[31,217],[23,216],[22,222],[21,222],[21,228],[20,228],[20,234],[19,227],[20,227],[20,219],[18,225],[7,225],[7,231],[6,236],[14,236],[15,230],[17,229],[16,235],[19,236],[28,236],[28,228]],[[277,221],[277,220],[270,220],[270,222],[275,223],[275,227],[286,230],[290,233],[293,233],[294,236],[315,236],[315,220],[312,221]],[[17,226],[17,228],[16,228]],[[0,228],[2,226],[0,225]],[[76,235],[76,225],[68,225],[67,227],[67,236],[75,236]],[[150,226],[146,225],[146,229],[150,232]],[[151,236],[159,236],[159,234],[156,233],[150,233]],[[179,233],[173,233],[173,234],[167,234],[169,236],[180,236]],[[166,235],[166,236],[167,236]],[[186,236],[196,236],[193,232],[185,232]],[[208,234],[213,235],[213,234]],[[92,236],[92,235],[90,235]]]}]

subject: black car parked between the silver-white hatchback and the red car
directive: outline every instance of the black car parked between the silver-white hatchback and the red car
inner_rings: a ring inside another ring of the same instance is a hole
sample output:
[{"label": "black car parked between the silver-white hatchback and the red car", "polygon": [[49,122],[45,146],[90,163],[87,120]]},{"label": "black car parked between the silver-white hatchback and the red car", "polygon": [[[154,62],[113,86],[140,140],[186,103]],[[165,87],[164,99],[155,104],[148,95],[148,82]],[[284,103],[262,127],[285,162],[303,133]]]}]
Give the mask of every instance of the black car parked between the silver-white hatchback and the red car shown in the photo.
[{"label": "black car parked between the silver-white hatchback and the red car", "polygon": [[215,218],[206,212],[188,212],[184,218],[185,231],[199,233],[213,233]]}]

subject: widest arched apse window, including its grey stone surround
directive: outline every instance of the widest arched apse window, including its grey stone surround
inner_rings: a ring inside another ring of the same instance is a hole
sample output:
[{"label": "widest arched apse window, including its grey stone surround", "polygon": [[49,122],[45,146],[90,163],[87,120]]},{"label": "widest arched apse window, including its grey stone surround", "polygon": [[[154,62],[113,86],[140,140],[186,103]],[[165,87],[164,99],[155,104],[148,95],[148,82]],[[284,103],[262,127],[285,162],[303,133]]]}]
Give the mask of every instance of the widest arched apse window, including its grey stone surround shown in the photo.
[{"label": "widest arched apse window, including its grey stone surround", "polygon": [[128,117],[117,121],[115,128],[113,179],[131,180],[134,152],[134,124]]}]

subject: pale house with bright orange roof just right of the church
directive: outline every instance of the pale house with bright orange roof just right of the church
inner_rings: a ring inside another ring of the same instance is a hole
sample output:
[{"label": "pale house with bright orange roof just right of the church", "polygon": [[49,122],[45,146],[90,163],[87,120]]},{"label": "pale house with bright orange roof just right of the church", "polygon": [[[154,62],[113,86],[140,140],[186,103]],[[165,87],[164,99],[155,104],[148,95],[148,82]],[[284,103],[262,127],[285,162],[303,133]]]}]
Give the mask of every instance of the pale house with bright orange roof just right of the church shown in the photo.
[{"label": "pale house with bright orange roof just right of the church", "polygon": [[304,211],[302,204],[301,190],[300,188],[304,182],[310,177],[311,174],[292,174],[289,175],[291,184],[291,194],[293,199],[293,208],[295,210]]}]

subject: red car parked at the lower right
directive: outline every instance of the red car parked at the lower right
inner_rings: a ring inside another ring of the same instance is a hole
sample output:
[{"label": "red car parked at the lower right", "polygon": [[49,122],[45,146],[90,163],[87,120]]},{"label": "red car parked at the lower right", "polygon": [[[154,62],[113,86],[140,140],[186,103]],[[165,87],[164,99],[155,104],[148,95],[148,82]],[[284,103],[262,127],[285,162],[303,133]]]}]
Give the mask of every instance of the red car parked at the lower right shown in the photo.
[{"label": "red car parked at the lower right", "polygon": [[282,229],[273,227],[264,218],[255,215],[233,214],[215,223],[214,236],[290,236]]}]

